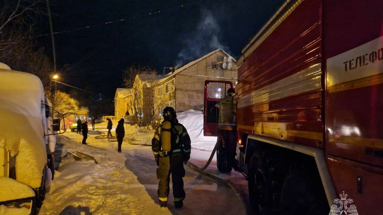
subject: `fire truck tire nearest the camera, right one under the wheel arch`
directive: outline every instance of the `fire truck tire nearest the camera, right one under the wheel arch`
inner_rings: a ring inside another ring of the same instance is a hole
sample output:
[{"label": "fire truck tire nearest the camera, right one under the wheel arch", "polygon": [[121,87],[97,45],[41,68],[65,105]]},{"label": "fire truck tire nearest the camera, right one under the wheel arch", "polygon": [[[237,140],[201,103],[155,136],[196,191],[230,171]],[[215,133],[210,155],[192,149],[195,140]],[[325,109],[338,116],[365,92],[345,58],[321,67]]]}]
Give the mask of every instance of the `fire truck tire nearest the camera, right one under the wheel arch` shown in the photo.
[{"label": "fire truck tire nearest the camera, right one under the wheel arch", "polygon": [[290,168],[282,187],[281,215],[322,215],[330,211],[318,173]]}]

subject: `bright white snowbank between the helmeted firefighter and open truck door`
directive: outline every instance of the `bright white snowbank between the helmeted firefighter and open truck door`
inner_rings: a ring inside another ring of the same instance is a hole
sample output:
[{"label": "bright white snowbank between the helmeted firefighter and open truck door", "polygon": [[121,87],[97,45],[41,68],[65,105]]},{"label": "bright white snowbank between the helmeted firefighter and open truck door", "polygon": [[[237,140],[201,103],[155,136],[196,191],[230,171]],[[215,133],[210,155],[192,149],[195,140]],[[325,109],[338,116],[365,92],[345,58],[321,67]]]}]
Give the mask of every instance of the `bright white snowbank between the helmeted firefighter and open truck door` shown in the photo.
[{"label": "bright white snowbank between the helmeted firefighter and open truck door", "polygon": [[203,113],[201,111],[188,110],[177,113],[177,119],[188,131],[191,147],[213,150],[217,137],[205,137],[203,135]]}]

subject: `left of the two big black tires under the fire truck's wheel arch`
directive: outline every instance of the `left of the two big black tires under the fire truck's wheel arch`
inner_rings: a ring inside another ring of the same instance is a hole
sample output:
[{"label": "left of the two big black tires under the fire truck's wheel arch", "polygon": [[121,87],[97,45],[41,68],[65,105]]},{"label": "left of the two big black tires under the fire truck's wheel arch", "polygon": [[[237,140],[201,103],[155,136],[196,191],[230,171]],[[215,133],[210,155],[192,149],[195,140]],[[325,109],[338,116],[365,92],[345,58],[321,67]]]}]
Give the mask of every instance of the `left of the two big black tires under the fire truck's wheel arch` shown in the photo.
[{"label": "left of the two big black tires under the fire truck's wheel arch", "polygon": [[249,197],[252,214],[278,214],[280,187],[283,177],[278,171],[276,156],[258,148],[254,151],[249,165]]}]

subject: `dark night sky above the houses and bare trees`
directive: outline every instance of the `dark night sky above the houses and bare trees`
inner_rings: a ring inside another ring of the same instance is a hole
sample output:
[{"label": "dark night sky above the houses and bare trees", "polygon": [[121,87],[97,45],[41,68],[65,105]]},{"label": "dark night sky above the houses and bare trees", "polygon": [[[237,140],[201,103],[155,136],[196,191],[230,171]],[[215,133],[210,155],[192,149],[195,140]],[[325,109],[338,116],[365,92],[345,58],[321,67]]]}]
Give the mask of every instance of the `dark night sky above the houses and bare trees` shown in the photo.
[{"label": "dark night sky above the houses and bare trees", "polygon": [[[55,34],[57,67],[66,68],[61,81],[113,98],[122,70],[132,63],[162,73],[164,67],[187,64],[218,48],[237,57],[283,2],[51,0],[55,32],[126,19]],[[41,33],[49,31],[43,18]],[[52,55],[50,36],[38,38]]]}]

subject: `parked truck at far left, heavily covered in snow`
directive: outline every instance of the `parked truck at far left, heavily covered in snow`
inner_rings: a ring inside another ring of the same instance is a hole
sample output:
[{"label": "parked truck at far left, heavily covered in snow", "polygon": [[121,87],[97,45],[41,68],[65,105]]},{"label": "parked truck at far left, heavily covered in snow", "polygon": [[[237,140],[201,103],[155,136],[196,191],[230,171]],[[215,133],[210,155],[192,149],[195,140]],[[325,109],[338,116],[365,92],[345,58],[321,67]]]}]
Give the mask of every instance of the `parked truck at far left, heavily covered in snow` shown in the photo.
[{"label": "parked truck at far left, heavily covered in snow", "polygon": [[60,121],[41,80],[0,63],[0,215],[34,214],[54,171]]}]

